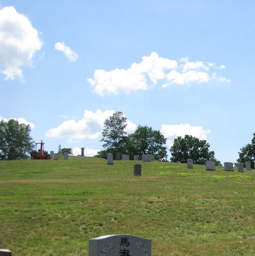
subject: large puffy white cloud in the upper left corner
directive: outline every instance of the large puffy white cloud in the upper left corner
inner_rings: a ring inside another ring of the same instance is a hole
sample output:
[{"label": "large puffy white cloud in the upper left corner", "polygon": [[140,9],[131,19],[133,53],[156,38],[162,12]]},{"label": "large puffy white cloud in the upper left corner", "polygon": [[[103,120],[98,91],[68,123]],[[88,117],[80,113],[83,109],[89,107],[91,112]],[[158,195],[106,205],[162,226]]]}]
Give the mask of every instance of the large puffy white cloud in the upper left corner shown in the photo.
[{"label": "large puffy white cloud in the upper left corner", "polygon": [[0,70],[4,80],[23,79],[21,66],[32,66],[32,58],[42,46],[38,32],[28,18],[18,14],[14,7],[0,10]]}]

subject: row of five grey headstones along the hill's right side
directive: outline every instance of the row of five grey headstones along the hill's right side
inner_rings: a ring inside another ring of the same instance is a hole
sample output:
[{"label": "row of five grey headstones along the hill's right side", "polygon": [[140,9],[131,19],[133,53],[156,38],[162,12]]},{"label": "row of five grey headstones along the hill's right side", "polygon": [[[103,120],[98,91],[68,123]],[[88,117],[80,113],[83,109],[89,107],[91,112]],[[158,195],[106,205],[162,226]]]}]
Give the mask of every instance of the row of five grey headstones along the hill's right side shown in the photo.
[{"label": "row of five grey headstones along the hill's right side", "polygon": [[[192,159],[187,159],[187,168],[188,169],[193,169],[193,160]],[[250,162],[249,161],[245,162],[245,169],[246,170],[251,170]],[[205,161],[205,168],[204,168],[204,170],[215,171],[216,170],[215,169],[215,162],[213,162],[213,161]],[[223,171],[234,171],[233,163],[224,162]],[[243,163],[237,163],[237,172],[244,172],[243,171]]]}]

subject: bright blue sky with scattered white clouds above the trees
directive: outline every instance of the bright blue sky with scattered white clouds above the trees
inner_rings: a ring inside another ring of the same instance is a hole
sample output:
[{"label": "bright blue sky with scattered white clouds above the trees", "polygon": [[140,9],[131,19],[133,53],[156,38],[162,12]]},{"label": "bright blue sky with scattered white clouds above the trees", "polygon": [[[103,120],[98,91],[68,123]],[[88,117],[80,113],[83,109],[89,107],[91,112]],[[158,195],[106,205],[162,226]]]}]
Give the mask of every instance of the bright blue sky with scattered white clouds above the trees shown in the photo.
[{"label": "bright blue sky with scattered white clouds above the trees", "polygon": [[[207,139],[235,162],[253,137],[253,1],[0,0],[0,118],[92,156],[114,111],[127,131]],[[169,151],[168,151],[169,152]],[[168,153],[168,157],[170,153]]]}]

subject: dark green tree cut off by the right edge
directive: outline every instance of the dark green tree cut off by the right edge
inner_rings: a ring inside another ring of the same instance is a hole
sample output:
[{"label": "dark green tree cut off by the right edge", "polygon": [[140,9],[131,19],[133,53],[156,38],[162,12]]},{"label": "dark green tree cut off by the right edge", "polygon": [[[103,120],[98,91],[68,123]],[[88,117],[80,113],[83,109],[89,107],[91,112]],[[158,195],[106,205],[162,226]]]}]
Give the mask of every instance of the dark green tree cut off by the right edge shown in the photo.
[{"label": "dark green tree cut off by the right edge", "polygon": [[240,152],[238,152],[239,158],[236,160],[237,163],[245,163],[246,161],[250,161],[251,169],[254,169],[254,161],[255,161],[255,133],[253,133],[253,138],[251,139],[251,144],[248,143],[244,147],[240,148]]}]

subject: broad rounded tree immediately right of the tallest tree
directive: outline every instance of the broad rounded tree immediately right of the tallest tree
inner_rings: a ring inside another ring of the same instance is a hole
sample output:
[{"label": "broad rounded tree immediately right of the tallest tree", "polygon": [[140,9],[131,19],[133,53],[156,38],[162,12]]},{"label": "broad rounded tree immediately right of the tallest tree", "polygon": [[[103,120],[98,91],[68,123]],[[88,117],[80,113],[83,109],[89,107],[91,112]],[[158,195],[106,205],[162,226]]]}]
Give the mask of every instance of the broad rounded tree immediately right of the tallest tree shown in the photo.
[{"label": "broad rounded tree immediately right of the tallest tree", "polygon": [[155,155],[155,160],[167,157],[166,138],[159,130],[152,130],[148,126],[138,126],[135,131],[128,135],[126,151],[133,157],[141,157],[145,154]]}]

